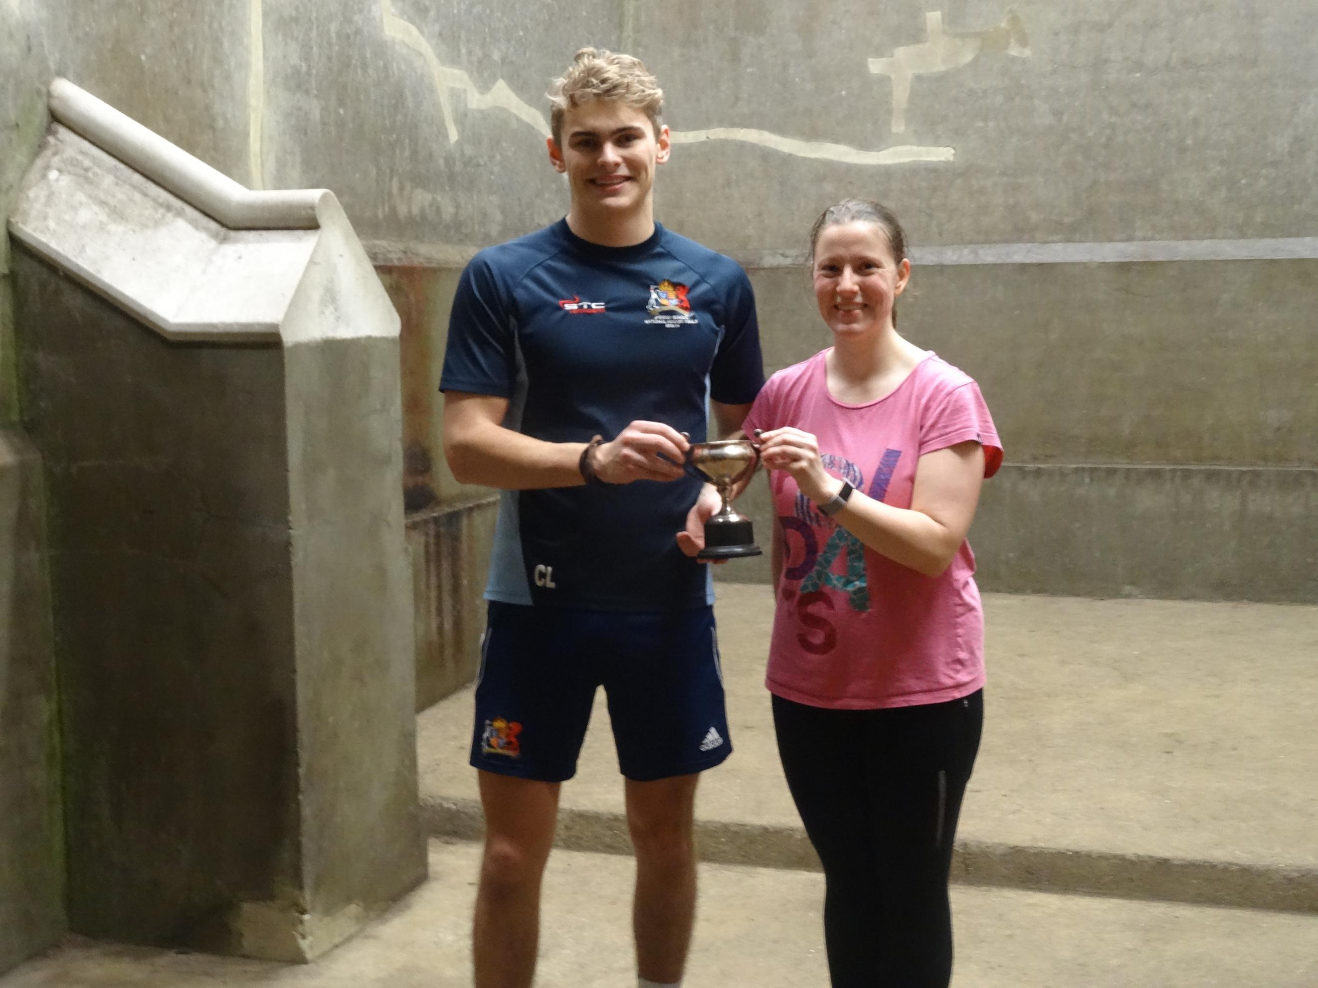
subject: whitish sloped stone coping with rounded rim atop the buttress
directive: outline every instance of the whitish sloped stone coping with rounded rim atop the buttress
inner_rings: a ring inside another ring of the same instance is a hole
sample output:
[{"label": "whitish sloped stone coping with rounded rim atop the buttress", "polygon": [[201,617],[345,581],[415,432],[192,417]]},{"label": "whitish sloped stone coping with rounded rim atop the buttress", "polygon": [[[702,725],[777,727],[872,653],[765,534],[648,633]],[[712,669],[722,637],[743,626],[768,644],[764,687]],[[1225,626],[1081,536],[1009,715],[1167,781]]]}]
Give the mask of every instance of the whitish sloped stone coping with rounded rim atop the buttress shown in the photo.
[{"label": "whitish sloped stone coping with rounded rim atop the buttress", "polygon": [[9,217],[14,238],[171,340],[398,335],[335,195],[253,192],[66,79]]}]

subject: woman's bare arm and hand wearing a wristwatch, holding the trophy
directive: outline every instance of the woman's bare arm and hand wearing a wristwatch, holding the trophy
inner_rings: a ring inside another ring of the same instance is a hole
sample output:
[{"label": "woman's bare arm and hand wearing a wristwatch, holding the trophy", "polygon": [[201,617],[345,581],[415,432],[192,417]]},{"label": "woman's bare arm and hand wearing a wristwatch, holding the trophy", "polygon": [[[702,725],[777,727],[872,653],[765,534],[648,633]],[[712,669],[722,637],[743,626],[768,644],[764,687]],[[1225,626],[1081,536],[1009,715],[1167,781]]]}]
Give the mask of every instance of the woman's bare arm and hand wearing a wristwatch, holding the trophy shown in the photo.
[{"label": "woman's bare arm and hand wearing a wristwatch, holding the trophy", "polygon": [[[809,432],[782,428],[766,432],[762,440],[764,465],[791,473],[816,506],[832,501],[842,489],[842,481],[824,469],[818,441]],[[958,443],[920,457],[909,508],[884,505],[857,490],[834,519],[875,552],[937,577],[952,564],[970,531],[983,473],[983,447]]]}]

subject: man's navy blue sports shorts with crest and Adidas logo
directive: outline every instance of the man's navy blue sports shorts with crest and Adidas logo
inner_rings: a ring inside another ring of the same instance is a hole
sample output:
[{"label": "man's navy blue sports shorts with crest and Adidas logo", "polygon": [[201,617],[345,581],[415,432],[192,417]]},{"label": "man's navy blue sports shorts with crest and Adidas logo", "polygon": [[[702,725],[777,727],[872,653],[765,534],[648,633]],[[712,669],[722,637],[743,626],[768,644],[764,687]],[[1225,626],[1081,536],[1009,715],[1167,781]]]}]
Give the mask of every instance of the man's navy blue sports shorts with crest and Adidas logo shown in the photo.
[{"label": "man's navy blue sports shorts with crest and Adidas logo", "polygon": [[731,754],[713,607],[638,613],[492,601],[472,765],[571,779],[596,686],[608,697],[627,779],[691,775]]}]

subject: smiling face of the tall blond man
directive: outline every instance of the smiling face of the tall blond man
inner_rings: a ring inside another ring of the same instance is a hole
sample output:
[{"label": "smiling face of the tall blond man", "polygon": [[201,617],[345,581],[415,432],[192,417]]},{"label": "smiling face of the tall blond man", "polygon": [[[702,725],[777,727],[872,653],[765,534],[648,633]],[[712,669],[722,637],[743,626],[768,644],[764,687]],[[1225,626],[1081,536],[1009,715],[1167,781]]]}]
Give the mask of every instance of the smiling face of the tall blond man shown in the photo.
[{"label": "smiling face of the tall blond man", "polygon": [[655,167],[668,161],[668,128],[655,137],[642,111],[592,100],[563,113],[563,145],[548,141],[550,161],[568,177],[573,208],[630,215],[650,202]]}]

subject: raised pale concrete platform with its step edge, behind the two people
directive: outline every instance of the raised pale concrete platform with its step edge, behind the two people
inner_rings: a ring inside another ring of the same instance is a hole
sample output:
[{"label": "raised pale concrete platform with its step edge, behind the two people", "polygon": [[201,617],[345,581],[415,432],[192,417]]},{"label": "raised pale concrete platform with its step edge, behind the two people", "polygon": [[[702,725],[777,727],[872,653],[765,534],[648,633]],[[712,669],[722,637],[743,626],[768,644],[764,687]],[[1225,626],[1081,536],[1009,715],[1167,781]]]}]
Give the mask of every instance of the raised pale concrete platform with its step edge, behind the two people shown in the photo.
[{"label": "raised pale concrete platform with its step edge, behind the two people", "polygon": [[[817,867],[763,689],[772,599],[718,586],[733,756],[697,797],[704,860]],[[1318,913],[1318,607],[986,595],[988,688],[954,877]],[[430,833],[476,839],[471,690],[423,713]],[[559,844],[627,854],[597,698]]]}]

